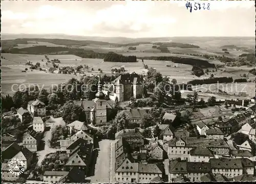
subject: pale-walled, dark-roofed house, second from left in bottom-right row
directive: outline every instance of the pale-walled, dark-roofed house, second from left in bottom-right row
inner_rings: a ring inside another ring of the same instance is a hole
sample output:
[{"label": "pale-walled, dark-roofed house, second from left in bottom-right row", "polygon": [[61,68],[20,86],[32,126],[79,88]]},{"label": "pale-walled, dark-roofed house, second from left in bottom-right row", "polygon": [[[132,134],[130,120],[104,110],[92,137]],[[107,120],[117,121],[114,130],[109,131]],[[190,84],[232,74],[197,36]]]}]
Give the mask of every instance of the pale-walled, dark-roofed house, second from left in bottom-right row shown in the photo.
[{"label": "pale-walled, dark-roofed house, second from left in bottom-right row", "polygon": [[187,178],[190,181],[200,182],[201,177],[209,174],[211,171],[210,163],[204,162],[188,162],[187,163]]}]

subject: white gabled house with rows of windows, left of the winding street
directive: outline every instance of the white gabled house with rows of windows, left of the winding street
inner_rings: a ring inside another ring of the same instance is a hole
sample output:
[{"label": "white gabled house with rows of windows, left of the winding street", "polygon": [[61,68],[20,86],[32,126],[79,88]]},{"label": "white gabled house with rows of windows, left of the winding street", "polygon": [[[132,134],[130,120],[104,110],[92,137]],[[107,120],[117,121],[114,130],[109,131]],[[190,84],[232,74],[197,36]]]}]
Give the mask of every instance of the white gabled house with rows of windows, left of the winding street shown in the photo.
[{"label": "white gabled house with rows of windows, left of the winding street", "polygon": [[30,151],[35,152],[38,151],[40,140],[40,136],[32,130],[23,135],[22,145]]}]

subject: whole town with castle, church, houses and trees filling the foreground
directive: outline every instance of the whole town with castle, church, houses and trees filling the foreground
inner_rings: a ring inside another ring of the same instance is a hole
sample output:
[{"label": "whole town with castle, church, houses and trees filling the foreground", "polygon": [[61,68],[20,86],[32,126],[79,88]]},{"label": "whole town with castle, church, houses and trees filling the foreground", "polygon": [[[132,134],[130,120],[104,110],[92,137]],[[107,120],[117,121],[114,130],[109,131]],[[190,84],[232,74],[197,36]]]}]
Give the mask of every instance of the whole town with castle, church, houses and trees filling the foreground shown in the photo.
[{"label": "whole town with castle, church, houses and trees filling the foreground", "polygon": [[[110,163],[101,159],[97,164],[109,164],[108,182],[256,180],[255,98],[210,97],[204,102],[194,92],[182,104],[172,97],[168,106],[168,95],[159,97],[142,85],[145,81],[136,73],[121,73],[103,84],[99,75],[97,92],[90,97],[72,100],[77,94],[63,93],[69,100],[60,105],[59,92],[39,92],[4,112],[2,179],[100,182],[101,175],[94,176],[93,170],[104,151],[99,147],[103,140],[111,141],[109,154],[103,153]],[[207,108],[219,109],[219,114],[200,111]],[[57,120],[65,122],[61,126]],[[11,126],[20,131],[16,136],[8,132]],[[14,158],[25,163],[23,174],[10,173],[8,162]]]}]

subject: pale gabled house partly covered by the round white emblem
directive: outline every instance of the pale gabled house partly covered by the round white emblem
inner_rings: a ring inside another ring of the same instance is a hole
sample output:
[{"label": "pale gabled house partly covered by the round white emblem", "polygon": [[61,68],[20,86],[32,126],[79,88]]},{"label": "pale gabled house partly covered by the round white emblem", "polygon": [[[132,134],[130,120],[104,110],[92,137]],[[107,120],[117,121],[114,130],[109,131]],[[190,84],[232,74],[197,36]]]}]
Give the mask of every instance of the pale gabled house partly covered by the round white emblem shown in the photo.
[{"label": "pale gabled house partly covered by the round white emblem", "polygon": [[27,148],[22,148],[16,155],[12,157],[12,159],[19,159],[23,161],[25,171],[30,168],[33,162],[33,153]]}]

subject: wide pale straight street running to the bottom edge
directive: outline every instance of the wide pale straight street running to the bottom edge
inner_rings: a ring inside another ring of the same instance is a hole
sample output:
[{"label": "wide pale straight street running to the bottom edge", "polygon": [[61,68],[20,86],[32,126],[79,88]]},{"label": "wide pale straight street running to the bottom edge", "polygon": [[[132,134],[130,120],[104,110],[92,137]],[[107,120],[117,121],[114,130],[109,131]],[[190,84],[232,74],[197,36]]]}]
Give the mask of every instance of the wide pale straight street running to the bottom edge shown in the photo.
[{"label": "wide pale straight street running to the bottom edge", "polygon": [[102,140],[99,142],[99,154],[95,165],[95,175],[91,183],[110,182],[110,147],[113,140]]}]

